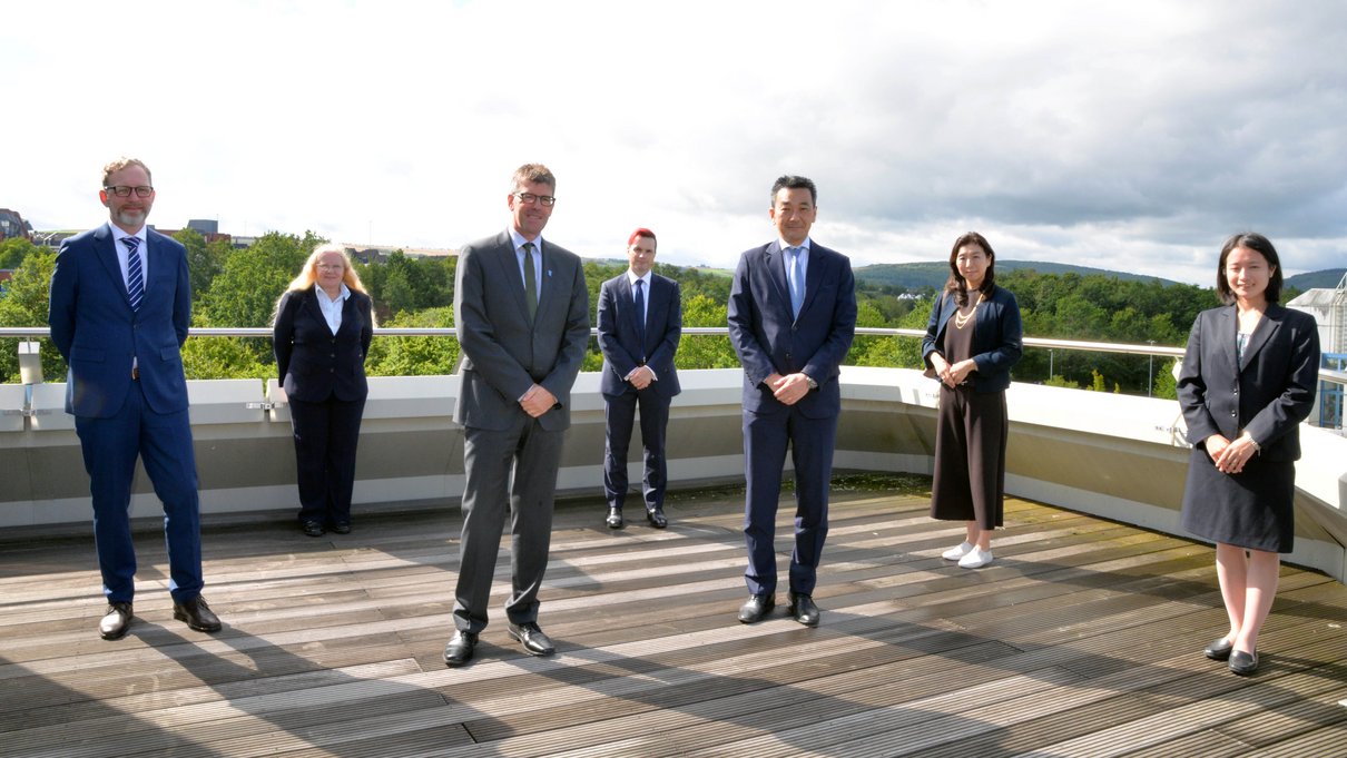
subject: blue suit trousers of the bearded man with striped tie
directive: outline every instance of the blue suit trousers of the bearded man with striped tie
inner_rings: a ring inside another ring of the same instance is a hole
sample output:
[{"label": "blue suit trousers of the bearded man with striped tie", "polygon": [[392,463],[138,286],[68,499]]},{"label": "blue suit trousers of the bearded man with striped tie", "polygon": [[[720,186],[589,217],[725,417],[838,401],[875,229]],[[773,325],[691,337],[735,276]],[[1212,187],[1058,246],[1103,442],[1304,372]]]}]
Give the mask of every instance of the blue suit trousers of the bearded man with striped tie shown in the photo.
[{"label": "blue suit trousers of the bearded man with striped tie", "polygon": [[139,381],[114,416],[75,416],[75,434],[93,495],[93,535],[108,602],[136,594],[136,548],[131,539],[131,487],[136,458],[145,466],[164,510],[168,591],[183,603],[201,594],[201,506],[197,459],[187,409],[155,413]]}]

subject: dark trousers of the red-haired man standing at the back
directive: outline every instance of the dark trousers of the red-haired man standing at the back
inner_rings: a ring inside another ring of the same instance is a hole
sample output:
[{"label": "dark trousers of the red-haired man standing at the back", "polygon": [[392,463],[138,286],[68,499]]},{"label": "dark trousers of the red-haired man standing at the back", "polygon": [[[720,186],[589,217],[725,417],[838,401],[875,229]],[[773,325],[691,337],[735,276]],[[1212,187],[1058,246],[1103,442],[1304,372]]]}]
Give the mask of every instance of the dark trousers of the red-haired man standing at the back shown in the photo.
[{"label": "dark trousers of the red-haired man standing at the back", "polygon": [[647,386],[640,392],[603,396],[603,494],[610,506],[626,499],[626,451],[632,443],[636,408],[641,409],[641,448],[645,459],[643,493],[645,509],[664,508],[668,462],[664,456],[664,429],[669,423],[669,399]]}]

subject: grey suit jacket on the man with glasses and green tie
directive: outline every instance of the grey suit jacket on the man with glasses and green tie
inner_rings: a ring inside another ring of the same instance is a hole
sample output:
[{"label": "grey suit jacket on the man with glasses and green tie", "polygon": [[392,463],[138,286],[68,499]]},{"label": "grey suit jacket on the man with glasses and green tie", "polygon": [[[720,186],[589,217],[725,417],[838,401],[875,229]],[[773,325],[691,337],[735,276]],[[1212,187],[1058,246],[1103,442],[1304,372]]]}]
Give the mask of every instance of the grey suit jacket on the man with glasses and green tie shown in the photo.
[{"label": "grey suit jacket on the man with glasses and green tie", "polygon": [[541,242],[543,276],[537,315],[528,318],[524,280],[509,232],[478,240],[458,253],[454,324],[462,350],[454,420],[465,427],[504,431],[519,399],[533,384],[556,396],[539,423],[571,425],[571,385],[589,347],[589,288],[579,256]]}]

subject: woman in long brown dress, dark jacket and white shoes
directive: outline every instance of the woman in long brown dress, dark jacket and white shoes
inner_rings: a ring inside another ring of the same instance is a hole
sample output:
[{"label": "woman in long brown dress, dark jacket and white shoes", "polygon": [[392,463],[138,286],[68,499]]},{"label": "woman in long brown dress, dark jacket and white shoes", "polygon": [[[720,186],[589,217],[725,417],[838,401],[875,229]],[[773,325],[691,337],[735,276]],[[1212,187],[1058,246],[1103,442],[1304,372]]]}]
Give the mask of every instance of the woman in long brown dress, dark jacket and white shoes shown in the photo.
[{"label": "woman in long brown dress, dark jacket and white shoes", "polygon": [[1020,306],[997,287],[995,263],[982,234],[955,240],[950,281],[921,341],[921,358],[940,380],[931,517],[966,522],[963,543],[942,553],[963,568],[991,563],[991,532],[1004,522],[1005,390],[1022,353]]}]

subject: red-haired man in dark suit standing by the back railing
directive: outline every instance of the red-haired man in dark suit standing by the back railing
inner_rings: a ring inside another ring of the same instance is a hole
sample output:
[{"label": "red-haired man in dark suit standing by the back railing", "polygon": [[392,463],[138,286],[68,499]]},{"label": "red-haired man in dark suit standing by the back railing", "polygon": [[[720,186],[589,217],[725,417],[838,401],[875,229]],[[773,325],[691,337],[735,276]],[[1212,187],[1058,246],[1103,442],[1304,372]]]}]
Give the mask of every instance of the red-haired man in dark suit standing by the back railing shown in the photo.
[{"label": "red-haired man in dark suit standing by the back railing", "polygon": [[674,354],[683,335],[683,304],[678,283],[651,272],[655,233],[637,229],[626,242],[626,273],[609,279],[598,295],[598,346],[603,351],[603,493],[607,526],[622,528],[626,499],[626,448],[632,421],[641,408],[641,447],[645,451],[645,518],[656,529],[668,526],[664,487],[668,466],[664,429],[669,401],[679,393]]}]

